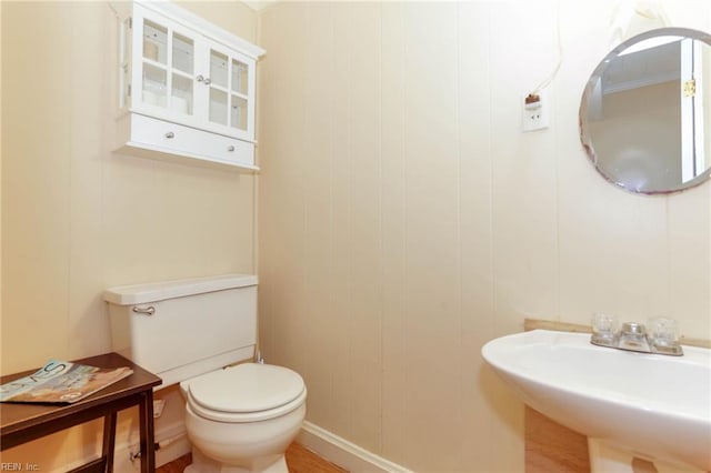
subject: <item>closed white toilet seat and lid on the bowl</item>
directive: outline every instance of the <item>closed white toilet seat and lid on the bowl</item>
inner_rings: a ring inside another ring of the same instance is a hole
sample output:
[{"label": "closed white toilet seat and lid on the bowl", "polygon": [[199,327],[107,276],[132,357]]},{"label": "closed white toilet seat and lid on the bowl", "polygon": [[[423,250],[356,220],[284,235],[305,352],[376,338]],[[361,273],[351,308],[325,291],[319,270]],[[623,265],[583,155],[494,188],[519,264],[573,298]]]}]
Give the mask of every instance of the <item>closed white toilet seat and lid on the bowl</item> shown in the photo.
[{"label": "closed white toilet seat and lid on the bowl", "polygon": [[184,383],[188,405],[219,422],[257,422],[284,415],[306,401],[303,379],[269,364],[244,363]]}]

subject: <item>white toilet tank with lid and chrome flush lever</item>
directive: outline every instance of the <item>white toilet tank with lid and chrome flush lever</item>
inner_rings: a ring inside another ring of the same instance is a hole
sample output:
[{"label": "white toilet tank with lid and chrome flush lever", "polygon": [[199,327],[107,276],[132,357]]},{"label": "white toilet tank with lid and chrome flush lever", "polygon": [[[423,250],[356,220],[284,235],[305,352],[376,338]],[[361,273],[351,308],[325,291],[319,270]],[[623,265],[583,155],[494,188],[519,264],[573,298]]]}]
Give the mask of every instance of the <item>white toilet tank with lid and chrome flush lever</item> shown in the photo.
[{"label": "white toilet tank with lid and chrome flush lever", "polygon": [[103,299],[112,350],[159,375],[161,388],[254,354],[256,275],[122,285]]}]

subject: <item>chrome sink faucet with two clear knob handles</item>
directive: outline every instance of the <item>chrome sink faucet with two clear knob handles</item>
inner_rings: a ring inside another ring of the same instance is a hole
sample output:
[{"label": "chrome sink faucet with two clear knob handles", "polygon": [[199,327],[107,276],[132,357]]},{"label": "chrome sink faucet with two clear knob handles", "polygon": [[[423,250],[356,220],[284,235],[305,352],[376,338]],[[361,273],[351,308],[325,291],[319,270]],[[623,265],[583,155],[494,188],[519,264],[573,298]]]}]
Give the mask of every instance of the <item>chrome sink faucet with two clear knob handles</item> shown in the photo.
[{"label": "chrome sink faucet with two clear knob handles", "polygon": [[611,349],[628,350],[641,353],[657,353],[672,356],[683,355],[677,338],[677,322],[671,319],[652,319],[651,333],[643,324],[625,322],[615,331],[617,321],[611,315],[595,314],[592,320],[590,343]]}]

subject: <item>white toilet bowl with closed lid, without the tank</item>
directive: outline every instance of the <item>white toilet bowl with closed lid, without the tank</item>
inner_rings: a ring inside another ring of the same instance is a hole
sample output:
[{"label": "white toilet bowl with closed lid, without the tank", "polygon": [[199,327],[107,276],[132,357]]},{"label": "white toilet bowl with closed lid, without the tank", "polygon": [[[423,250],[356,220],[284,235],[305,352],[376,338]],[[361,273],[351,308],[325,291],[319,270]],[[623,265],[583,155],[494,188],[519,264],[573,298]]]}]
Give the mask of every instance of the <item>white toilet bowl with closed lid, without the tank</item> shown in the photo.
[{"label": "white toilet bowl with closed lid, without the tank", "polygon": [[243,363],[183,381],[180,388],[193,446],[186,472],[288,471],[284,452],[306,415],[307,390],[298,373]]}]

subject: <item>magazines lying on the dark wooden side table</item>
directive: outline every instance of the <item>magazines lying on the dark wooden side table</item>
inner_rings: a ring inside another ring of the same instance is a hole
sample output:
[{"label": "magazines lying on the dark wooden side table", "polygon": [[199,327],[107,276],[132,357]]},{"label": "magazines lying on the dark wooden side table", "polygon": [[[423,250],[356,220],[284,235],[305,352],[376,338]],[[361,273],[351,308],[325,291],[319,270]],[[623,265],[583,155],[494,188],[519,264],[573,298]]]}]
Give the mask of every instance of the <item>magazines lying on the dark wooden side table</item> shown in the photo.
[{"label": "magazines lying on the dark wooden side table", "polygon": [[0,385],[0,402],[72,403],[131,374],[122,368],[98,368],[50,360],[36,373]]}]

